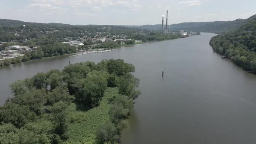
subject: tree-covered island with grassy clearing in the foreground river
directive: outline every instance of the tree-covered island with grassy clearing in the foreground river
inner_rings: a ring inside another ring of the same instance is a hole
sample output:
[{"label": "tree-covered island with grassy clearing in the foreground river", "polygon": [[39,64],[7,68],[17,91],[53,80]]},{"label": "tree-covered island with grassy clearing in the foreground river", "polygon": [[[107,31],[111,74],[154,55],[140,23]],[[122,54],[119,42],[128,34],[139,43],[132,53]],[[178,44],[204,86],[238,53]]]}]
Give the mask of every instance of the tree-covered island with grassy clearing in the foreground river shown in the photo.
[{"label": "tree-covered island with grassy clearing in the foreground river", "polygon": [[4,144],[114,144],[141,92],[122,59],[80,62],[10,85],[0,106]]}]

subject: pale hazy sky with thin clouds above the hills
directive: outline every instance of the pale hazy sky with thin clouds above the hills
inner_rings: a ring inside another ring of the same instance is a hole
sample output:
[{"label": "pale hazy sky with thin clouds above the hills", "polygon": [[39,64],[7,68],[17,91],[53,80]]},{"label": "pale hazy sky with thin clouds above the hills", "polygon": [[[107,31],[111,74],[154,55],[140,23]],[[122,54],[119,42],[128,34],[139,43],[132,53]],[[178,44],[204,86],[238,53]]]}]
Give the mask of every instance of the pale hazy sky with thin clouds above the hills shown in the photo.
[{"label": "pale hazy sky with thin clouds above the hills", "polygon": [[0,18],[40,23],[161,24],[236,20],[256,14],[256,0],[0,0]]}]

